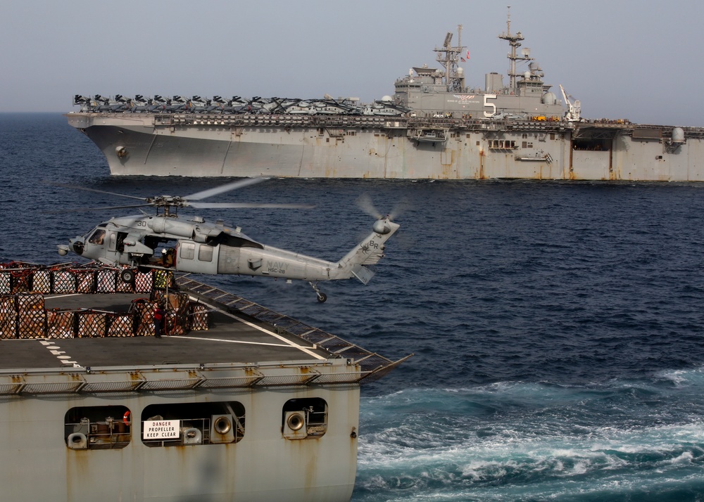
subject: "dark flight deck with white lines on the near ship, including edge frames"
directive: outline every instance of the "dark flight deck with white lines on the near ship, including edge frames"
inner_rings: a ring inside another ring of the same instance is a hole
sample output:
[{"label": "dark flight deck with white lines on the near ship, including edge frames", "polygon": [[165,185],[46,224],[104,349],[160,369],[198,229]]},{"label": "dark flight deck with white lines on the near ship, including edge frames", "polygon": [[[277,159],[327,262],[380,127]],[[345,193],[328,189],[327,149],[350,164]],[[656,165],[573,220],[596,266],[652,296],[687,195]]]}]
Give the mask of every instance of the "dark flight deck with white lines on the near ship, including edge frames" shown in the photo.
[{"label": "dark flight deck with white lines on the near ship, including edge frames", "polygon": [[[139,374],[141,383],[125,384],[124,389],[118,390],[145,390],[144,383],[150,378],[147,375],[154,378],[158,374],[158,380],[164,382],[164,373],[168,370],[183,374],[180,378],[170,378],[170,387],[165,386],[162,390],[193,389],[206,385],[206,380],[213,377],[220,378],[219,387],[308,385],[313,382],[334,385],[360,382],[372,375],[377,378],[406,359],[393,362],[323,330],[186,276],[177,281],[191,301],[203,304],[208,310],[207,330],[162,337],[0,340],[0,394],[30,391],[31,386],[23,385],[28,377],[22,378],[20,385],[11,382],[15,375],[32,373],[42,374],[44,378],[53,374],[49,380],[64,382],[63,387],[60,386],[63,391],[81,392],[83,389],[82,392],[87,392],[91,389],[94,392],[96,389],[90,385],[70,385],[67,373],[89,381],[90,373],[99,369],[103,373],[125,375],[125,372],[133,371]],[[126,313],[140,298],[144,298],[144,294],[71,293],[44,295],[44,302],[47,310]],[[233,371],[237,375],[232,375]],[[230,375],[226,382],[222,379],[223,372]],[[3,384],[2,380],[6,383]],[[152,387],[157,390],[159,386]],[[109,390],[116,389],[109,387]],[[31,392],[59,391],[55,387],[39,386]]]}]

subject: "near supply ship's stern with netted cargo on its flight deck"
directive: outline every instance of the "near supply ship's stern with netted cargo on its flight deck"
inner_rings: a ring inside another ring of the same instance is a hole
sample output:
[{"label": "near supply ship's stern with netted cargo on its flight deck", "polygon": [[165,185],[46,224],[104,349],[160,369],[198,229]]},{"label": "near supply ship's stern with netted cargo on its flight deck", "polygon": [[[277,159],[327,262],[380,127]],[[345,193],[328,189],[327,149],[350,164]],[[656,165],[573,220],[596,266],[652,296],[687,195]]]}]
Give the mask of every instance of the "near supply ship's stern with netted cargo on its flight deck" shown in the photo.
[{"label": "near supply ship's stern with netted cargo on its flight deck", "polygon": [[351,498],[360,383],[401,361],[189,276],[117,272],[0,264],[0,499]]}]

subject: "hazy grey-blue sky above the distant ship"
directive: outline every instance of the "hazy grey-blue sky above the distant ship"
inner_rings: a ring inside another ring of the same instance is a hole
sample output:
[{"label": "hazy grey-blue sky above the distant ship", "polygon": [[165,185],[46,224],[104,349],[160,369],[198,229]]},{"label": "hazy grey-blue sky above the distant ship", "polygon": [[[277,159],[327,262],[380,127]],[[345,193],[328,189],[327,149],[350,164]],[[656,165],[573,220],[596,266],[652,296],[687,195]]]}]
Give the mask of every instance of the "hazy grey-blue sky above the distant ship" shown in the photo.
[{"label": "hazy grey-blue sky above the distant ship", "polygon": [[74,94],[372,101],[435,67],[458,24],[479,87],[508,70],[508,4],[583,116],[704,127],[700,0],[2,0],[0,112],[77,110]]}]

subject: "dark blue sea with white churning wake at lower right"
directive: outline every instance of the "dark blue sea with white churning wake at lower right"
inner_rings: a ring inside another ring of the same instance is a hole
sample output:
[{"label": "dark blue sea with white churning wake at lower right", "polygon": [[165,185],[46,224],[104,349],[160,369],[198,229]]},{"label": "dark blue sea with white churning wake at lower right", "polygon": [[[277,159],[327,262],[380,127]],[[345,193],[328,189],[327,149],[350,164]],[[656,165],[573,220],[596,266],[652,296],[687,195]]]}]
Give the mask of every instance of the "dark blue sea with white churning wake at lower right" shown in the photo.
[{"label": "dark blue sea with white churning wake at lower right", "polygon": [[[222,179],[112,177],[61,115],[0,115],[0,261],[130,203]],[[229,180],[225,180],[229,181]],[[403,207],[377,276],[213,281],[391,359],[363,386],[353,501],[704,499],[704,184],[272,179],[207,210],[263,243],[337,260]]]}]

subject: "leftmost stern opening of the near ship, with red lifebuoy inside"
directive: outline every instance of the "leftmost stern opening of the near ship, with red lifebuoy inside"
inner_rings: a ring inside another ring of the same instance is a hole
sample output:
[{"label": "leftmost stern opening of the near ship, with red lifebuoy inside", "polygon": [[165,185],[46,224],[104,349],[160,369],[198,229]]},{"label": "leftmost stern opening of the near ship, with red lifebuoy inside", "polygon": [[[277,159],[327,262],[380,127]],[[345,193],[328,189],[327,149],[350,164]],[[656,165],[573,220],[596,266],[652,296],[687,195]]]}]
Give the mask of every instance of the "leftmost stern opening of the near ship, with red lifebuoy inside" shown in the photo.
[{"label": "leftmost stern opening of the near ship, with red lifebuoy inside", "polygon": [[127,406],[77,406],[66,412],[63,425],[66,446],[72,450],[125,448],[132,413]]}]

